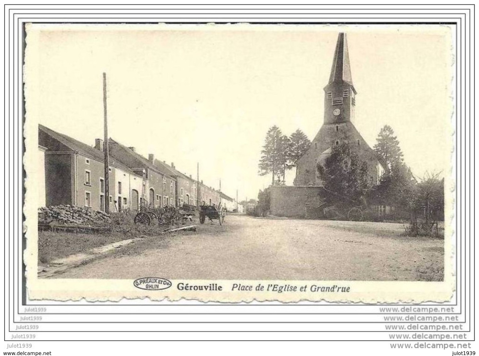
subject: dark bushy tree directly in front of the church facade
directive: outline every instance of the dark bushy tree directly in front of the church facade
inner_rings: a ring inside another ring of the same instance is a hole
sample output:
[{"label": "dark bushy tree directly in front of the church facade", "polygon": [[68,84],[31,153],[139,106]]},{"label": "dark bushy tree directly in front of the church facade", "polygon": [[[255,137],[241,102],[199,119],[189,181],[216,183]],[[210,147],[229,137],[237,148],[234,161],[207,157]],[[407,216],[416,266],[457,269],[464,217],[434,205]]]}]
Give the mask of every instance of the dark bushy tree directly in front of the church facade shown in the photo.
[{"label": "dark bushy tree directly in front of the church facade", "polygon": [[318,172],[324,188],[357,200],[372,187],[367,173],[367,162],[361,159],[347,143],[334,145],[324,165],[318,163]]}]

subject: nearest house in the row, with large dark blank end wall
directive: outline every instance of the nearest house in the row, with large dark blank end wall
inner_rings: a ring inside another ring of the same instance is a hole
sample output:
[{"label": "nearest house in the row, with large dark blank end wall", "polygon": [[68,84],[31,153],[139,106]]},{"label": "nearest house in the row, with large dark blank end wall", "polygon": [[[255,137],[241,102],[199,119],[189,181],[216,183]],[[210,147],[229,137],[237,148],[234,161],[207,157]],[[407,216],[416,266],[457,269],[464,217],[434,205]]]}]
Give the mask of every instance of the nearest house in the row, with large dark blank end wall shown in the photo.
[{"label": "nearest house in the row, with large dark blank end wall", "polygon": [[[105,204],[109,204],[110,211],[117,211],[122,206],[129,207],[131,197],[128,191],[132,181],[142,184],[140,172],[135,173],[111,157],[108,167],[110,194],[105,197],[102,140],[97,140],[95,147],[91,147],[39,125],[38,143],[46,148],[46,206],[71,204],[104,211]],[[126,194],[123,189],[127,189]],[[122,199],[118,200],[120,196]]]}]

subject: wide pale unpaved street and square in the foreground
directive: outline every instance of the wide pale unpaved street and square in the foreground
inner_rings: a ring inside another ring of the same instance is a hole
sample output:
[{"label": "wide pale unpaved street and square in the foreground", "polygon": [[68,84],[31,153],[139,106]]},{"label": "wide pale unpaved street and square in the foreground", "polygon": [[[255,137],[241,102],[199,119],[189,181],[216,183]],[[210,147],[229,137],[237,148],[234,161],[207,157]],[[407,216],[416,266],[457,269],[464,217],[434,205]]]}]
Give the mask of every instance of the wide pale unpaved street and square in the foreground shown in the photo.
[{"label": "wide pale unpaved street and square in the foreground", "polygon": [[[147,237],[52,278],[430,280],[444,240],[399,236],[402,224],[228,215],[197,232]],[[442,278],[442,276],[440,277]]]}]

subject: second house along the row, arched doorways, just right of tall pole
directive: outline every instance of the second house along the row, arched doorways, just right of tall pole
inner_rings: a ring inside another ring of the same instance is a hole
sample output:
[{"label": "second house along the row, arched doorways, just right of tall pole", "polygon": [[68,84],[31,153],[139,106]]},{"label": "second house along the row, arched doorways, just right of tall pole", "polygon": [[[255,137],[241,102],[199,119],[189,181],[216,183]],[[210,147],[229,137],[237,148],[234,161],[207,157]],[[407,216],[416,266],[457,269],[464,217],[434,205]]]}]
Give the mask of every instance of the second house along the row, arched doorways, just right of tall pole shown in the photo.
[{"label": "second house along the row, arched doorways, just right of tall pole", "polygon": [[[134,172],[144,171],[144,181],[140,190],[132,189],[132,209],[141,205],[152,208],[174,206],[176,201],[176,180],[171,172],[153,164],[154,157],[147,158],[136,152],[135,147],[126,147],[110,138],[110,156],[129,167]],[[138,203],[137,203],[138,201]]]}]

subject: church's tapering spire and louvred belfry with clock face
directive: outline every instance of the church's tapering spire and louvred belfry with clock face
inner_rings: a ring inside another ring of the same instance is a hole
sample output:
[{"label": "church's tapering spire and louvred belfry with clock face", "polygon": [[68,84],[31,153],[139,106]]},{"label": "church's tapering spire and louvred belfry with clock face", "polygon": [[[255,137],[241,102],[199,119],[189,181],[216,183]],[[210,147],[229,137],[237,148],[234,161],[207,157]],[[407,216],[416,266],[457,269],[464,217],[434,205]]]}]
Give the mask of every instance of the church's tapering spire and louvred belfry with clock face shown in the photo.
[{"label": "church's tapering spire and louvred belfry with clock face", "polygon": [[346,33],[338,35],[330,79],[324,91],[324,123],[339,124],[352,121],[356,90],[351,77]]}]

